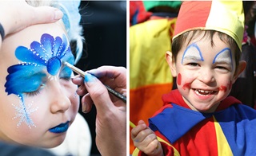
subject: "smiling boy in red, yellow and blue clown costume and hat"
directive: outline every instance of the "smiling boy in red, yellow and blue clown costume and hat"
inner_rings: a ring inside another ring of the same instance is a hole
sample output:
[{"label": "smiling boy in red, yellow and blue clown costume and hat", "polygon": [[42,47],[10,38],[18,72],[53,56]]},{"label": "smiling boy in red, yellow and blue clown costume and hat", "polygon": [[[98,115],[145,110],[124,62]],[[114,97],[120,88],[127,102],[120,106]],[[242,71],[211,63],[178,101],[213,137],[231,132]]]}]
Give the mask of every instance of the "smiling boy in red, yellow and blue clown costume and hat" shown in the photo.
[{"label": "smiling boy in red, yellow and blue clown costume and hat", "polygon": [[246,67],[243,21],[242,2],[182,3],[166,53],[178,90],[131,131],[134,155],[256,154],[256,111],[228,96]]}]

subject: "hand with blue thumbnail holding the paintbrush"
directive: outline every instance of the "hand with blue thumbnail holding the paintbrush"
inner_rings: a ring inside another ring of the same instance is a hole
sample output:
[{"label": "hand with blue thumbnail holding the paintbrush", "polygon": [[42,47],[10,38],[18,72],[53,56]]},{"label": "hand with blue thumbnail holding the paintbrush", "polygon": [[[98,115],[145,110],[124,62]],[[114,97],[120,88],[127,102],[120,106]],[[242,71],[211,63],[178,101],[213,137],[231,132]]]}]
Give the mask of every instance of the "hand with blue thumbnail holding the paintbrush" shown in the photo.
[{"label": "hand with blue thumbnail holding the paintbrush", "polygon": [[[80,85],[82,110],[89,112],[94,104],[96,115],[96,144],[102,155],[126,155],[126,103],[111,95],[103,84],[126,96],[126,68],[102,66],[87,71],[83,79],[75,76]],[[102,84],[103,83],[103,84]]]}]

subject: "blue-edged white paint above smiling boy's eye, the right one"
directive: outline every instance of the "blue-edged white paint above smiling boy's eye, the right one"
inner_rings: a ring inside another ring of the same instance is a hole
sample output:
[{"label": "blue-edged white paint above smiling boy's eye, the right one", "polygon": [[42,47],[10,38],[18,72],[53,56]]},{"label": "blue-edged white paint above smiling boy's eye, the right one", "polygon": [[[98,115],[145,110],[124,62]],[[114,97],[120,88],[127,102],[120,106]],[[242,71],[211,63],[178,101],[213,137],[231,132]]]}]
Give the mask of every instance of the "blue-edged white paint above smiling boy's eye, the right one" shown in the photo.
[{"label": "blue-edged white paint above smiling boy's eye, the right one", "polygon": [[233,69],[233,60],[231,50],[226,48],[222,49],[217,55],[214,57],[213,64],[228,64],[231,65],[231,70]]}]

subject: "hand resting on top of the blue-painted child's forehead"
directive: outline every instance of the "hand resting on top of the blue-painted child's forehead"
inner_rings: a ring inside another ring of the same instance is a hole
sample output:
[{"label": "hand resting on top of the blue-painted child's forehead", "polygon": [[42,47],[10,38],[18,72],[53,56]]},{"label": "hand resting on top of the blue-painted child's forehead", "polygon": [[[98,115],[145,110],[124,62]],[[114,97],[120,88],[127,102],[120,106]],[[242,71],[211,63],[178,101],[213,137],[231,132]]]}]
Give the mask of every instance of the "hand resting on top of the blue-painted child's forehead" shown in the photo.
[{"label": "hand resting on top of the blue-painted child's forehead", "polygon": [[[21,9],[22,8],[22,9]],[[0,21],[6,36],[18,32],[30,25],[51,23],[62,18],[63,13],[50,6],[33,7],[24,0],[0,1]],[[7,16],[10,16],[8,18]],[[0,37],[1,38],[1,37]],[[2,45],[2,38],[0,47]]]}]

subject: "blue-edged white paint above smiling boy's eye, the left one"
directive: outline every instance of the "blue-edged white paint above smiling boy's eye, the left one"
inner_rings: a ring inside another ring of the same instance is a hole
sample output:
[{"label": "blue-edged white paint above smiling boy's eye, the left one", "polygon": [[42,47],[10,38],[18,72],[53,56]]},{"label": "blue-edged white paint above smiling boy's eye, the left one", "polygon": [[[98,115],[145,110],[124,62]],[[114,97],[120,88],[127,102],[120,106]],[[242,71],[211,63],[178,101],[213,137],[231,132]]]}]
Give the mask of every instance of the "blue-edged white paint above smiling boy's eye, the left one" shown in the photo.
[{"label": "blue-edged white paint above smiling boy's eye, the left one", "polygon": [[203,61],[204,59],[202,58],[202,53],[201,53],[201,50],[199,49],[198,45],[196,45],[195,43],[189,45],[186,48],[185,52],[183,53],[182,64],[183,64],[183,60],[189,60],[189,61],[201,60],[201,61]]}]

